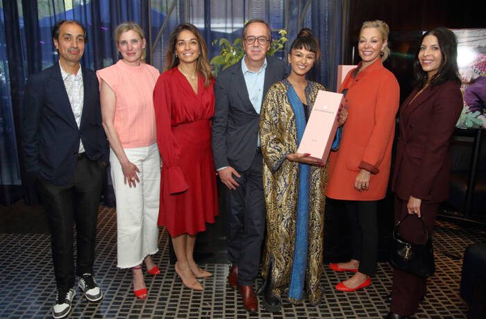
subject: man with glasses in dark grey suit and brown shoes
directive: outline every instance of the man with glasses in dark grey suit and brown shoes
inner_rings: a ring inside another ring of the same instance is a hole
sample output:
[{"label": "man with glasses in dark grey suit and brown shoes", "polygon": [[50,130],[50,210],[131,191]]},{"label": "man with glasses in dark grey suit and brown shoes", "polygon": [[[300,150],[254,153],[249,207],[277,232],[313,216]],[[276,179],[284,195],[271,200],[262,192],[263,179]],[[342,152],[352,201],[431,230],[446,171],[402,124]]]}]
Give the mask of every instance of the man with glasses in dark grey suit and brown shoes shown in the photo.
[{"label": "man with glasses in dark grey suit and brown shoes", "polygon": [[239,288],[244,308],[258,310],[253,281],[260,266],[265,234],[262,153],[258,140],[260,108],[270,85],[287,77],[287,65],[267,56],[271,33],[260,19],[243,28],[245,55],[219,74],[215,85],[212,153],[221,182],[228,188],[228,284]]}]

